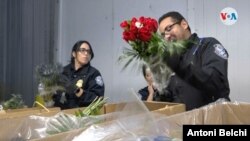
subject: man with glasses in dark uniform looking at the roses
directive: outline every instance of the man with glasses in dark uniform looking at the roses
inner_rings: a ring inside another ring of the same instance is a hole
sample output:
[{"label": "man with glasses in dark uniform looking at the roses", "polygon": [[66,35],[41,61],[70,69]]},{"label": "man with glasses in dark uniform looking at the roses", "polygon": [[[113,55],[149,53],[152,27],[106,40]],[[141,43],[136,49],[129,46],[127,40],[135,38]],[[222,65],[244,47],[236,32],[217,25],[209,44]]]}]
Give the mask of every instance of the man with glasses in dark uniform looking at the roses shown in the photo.
[{"label": "man with glasses in dark uniform looking at the roses", "polygon": [[219,98],[230,100],[228,52],[213,37],[191,34],[188,22],[178,12],[168,12],[159,20],[159,30],[167,41],[193,42],[181,55],[165,58],[174,74],[167,87],[173,102],[186,105],[186,110],[199,108]]}]

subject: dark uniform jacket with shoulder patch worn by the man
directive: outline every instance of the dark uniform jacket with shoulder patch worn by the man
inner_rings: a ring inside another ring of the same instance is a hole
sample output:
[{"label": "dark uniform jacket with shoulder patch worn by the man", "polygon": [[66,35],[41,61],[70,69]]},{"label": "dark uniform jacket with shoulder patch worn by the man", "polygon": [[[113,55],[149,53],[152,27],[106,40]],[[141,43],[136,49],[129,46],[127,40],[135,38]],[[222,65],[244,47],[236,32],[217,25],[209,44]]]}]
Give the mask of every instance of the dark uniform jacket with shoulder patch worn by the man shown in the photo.
[{"label": "dark uniform jacket with shoulder patch worn by the man", "polygon": [[226,49],[212,37],[192,34],[190,40],[194,44],[178,57],[179,61],[170,63],[175,74],[167,89],[173,102],[184,103],[186,110],[191,110],[219,98],[230,100]]}]

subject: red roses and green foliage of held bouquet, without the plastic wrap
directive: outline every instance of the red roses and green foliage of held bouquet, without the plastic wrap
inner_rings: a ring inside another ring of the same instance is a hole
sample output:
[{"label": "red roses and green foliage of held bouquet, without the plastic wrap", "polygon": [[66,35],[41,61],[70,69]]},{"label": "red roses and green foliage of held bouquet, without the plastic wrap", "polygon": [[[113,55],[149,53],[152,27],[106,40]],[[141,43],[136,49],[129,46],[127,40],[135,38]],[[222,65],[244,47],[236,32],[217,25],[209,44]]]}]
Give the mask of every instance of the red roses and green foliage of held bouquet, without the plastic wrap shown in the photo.
[{"label": "red roses and green foliage of held bouquet, without the plastic wrap", "polygon": [[162,57],[181,53],[185,50],[184,41],[167,42],[157,33],[158,23],[150,17],[133,17],[120,24],[123,29],[123,39],[132,47],[125,48],[119,60],[128,59],[125,67],[134,59],[145,62],[152,61],[152,57]]}]

